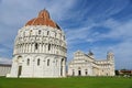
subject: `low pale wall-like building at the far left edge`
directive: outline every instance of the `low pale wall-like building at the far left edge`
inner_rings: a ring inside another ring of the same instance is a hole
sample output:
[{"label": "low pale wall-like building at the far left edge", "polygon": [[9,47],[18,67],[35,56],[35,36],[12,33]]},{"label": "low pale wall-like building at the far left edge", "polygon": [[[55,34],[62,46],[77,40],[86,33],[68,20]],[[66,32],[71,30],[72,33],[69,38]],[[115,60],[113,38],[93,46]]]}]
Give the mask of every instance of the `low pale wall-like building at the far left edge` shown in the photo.
[{"label": "low pale wall-like building at the far left edge", "polygon": [[11,65],[9,64],[0,64],[0,76],[7,76],[11,70]]}]

